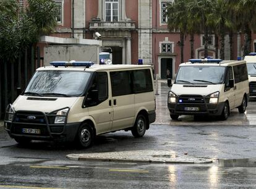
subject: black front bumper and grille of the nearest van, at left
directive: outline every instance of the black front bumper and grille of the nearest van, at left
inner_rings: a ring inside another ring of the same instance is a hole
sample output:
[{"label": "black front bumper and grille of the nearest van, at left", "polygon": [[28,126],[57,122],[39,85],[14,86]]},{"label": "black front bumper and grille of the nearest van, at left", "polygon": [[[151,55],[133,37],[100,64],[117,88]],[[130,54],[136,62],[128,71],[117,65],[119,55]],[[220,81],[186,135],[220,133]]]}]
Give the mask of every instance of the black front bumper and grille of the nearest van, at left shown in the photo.
[{"label": "black front bumper and grille of the nearest van, at left", "polygon": [[[33,115],[36,119],[27,117]],[[12,121],[4,121],[4,129],[12,138],[30,138],[31,140],[74,141],[79,122],[51,124],[51,117],[44,112],[17,111]],[[40,133],[24,133],[23,128],[40,130]]]}]

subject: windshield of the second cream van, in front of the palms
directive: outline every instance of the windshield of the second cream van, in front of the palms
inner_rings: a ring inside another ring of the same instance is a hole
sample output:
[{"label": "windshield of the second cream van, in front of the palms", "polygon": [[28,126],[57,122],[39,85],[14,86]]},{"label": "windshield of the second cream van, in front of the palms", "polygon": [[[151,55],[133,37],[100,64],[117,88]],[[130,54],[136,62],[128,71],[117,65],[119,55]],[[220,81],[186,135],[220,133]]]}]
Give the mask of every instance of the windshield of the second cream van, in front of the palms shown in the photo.
[{"label": "windshield of the second cream van, in front of the palms", "polygon": [[224,82],[225,67],[221,66],[182,66],[176,76],[177,84],[216,85]]}]

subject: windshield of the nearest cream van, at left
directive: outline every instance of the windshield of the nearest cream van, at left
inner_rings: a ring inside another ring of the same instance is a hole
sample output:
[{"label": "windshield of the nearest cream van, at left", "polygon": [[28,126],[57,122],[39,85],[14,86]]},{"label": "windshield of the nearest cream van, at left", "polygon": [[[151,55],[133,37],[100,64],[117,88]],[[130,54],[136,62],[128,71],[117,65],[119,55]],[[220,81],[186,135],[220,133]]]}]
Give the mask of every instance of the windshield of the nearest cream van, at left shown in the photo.
[{"label": "windshield of the nearest cream van, at left", "polygon": [[85,90],[90,72],[43,70],[37,71],[28,83],[24,95],[80,96]]}]

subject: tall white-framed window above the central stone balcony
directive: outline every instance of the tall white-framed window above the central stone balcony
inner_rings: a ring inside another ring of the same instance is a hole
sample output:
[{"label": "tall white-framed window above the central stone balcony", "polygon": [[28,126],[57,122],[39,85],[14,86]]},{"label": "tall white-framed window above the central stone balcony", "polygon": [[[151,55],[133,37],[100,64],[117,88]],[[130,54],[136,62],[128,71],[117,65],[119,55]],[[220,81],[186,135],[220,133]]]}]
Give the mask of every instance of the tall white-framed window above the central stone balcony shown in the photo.
[{"label": "tall white-framed window above the central stone balcony", "polygon": [[119,12],[119,0],[105,0],[105,21],[117,22]]}]

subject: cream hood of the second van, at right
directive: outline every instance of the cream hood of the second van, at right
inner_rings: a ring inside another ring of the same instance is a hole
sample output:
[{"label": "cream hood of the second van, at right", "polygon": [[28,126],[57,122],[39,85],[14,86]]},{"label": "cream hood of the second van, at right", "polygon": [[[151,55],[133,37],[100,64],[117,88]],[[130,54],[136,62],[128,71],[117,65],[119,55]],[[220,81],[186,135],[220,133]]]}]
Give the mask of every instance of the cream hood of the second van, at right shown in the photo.
[{"label": "cream hood of the second van, at right", "polygon": [[176,95],[182,94],[199,94],[202,96],[207,96],[208,94],[215,93],[221,90],[220,85],[181,85],[173,84],[171,91]]}]

